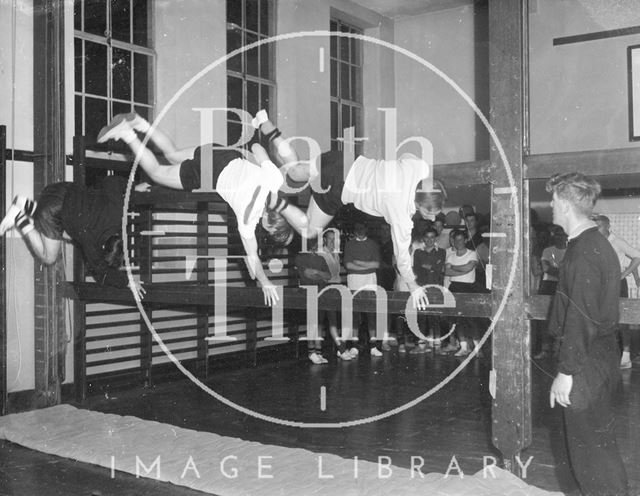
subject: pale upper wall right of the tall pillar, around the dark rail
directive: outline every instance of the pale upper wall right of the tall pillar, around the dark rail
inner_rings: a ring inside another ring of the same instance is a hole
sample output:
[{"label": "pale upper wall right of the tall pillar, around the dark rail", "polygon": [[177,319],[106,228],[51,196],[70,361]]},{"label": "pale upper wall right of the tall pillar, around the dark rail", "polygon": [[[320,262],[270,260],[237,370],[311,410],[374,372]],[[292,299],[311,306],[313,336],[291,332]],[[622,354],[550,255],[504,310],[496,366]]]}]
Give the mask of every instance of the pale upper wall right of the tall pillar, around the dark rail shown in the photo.
[{"label": "pale upper wall right of the tall pillar, around the dark rail", "polygon": [[639,23],[629,2],[537,0],[529,17],[532,153],[637,146],[628,139],[627,47],[640,35],[553,39]]}]

